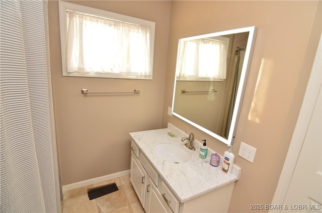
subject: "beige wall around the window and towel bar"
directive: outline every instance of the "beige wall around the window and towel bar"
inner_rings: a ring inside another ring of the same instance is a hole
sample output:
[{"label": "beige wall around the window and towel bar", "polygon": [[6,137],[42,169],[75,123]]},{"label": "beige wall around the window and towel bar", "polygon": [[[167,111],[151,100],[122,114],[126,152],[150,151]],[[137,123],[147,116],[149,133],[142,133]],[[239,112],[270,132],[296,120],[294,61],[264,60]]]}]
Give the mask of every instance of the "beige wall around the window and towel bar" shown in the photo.
[{"label": "beige wall around the window and towel bar", "polygon": [[[56,137],[62,185],[130,168],[129,132],[162,124],[171,2],[72,1],[155,22],[153,80],[63,77],[58,1],[49,1],[49,39]],[[82,95],[133,91],[139,95]]]}]

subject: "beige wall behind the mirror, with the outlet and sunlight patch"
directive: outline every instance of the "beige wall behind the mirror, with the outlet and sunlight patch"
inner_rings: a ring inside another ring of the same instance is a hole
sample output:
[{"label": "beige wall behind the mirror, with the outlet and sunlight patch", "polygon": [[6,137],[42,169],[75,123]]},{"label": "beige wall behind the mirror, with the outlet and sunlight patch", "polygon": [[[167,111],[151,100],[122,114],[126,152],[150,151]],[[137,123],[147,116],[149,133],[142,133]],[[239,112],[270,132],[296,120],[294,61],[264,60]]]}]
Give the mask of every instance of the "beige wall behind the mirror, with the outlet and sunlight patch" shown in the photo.
[{"label": "beige wall behind the mirror, with the outlet and sunlight patch", "polygon": [[[172,3],[162,126],[171,122],[194,132],[196,139],[207,139],[207,145],[220,154],[227,150],[225,144],[167,115],[172,105],[178,39],[248,26],[256,26],[258,33],[234,141],[241,176],[235,183],[229,212],[256,212],[250,210],[250,204],[271,203],[321,33],[321,2]],[[254,163],[237,156],[240,141],[257,148]]]}]

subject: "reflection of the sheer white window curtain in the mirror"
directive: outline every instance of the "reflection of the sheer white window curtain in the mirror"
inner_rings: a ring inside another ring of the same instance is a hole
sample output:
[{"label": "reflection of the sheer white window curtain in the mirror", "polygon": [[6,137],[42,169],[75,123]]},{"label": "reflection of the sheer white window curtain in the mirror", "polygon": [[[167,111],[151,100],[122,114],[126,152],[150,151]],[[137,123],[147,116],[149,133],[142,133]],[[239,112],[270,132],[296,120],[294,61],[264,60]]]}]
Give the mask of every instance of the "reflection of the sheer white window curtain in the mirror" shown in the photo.
[{"label": "reflection of the sheer white window curtain in the mirror", "polygon": [[179,52],[179,79],[226,79],[227,50],[222,41],[183,41]]}]

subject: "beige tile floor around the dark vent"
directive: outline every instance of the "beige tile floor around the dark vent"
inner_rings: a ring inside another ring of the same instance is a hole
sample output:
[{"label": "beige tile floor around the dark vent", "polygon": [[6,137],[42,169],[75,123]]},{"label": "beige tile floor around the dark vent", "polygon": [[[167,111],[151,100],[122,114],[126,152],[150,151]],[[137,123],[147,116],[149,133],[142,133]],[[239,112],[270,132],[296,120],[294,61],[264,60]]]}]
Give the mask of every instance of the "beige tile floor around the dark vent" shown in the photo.
[{"label": "beige tile floor around the dark vent", "polygon": [[[87,194],[88,188],[115,182],[118,189],[112,193],[90,200]],[[130,183],[129,175],[115,179],[71,189],[63,193],[62,212],[73,213],[144,213],[144,209],[138,200]]]}]

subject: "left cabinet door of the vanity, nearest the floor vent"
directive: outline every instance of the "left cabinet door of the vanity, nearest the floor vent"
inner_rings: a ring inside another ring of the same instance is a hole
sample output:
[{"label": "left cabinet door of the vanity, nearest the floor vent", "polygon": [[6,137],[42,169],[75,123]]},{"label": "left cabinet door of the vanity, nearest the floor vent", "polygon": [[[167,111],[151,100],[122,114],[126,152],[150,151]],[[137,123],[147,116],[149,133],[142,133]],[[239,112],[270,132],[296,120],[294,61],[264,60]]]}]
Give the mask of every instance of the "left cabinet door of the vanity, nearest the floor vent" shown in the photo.
[{"label": "left cabinet door of the vanity, nearest the floor vent", "polygon": [[144,206],[147,173],[133,152],[131,153],[130,181],[142,206]]}]

